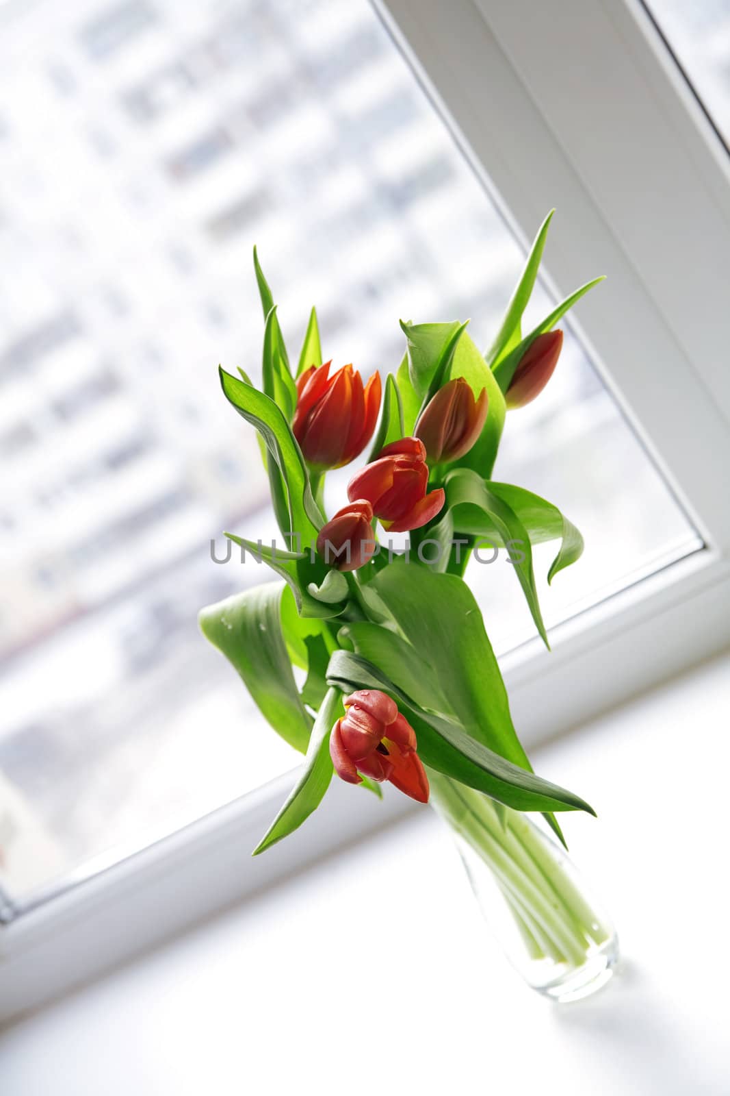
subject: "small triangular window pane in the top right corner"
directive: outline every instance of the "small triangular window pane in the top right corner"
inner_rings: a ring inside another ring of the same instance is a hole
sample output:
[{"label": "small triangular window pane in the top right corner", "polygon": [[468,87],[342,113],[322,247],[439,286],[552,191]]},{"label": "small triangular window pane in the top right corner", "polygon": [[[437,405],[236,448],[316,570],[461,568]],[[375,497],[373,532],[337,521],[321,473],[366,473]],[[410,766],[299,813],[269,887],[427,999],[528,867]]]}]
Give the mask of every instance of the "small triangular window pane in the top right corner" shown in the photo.
[{"label": "small triangular window pane in the top right corner", "polygon": [[649,0],[647,8],[730,147],[730,0]]}]

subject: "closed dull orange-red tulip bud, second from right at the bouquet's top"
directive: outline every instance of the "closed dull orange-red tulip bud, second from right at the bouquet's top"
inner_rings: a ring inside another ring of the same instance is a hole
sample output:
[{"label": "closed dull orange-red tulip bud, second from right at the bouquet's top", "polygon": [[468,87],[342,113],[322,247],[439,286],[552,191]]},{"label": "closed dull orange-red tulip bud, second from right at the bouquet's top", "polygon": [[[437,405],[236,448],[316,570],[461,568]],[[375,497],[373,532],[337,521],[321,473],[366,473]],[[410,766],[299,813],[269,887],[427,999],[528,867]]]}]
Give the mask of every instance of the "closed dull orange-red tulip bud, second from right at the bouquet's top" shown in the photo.
[{"label": "closed dull orange-red tulip bud, second from right at the bouquet's top", "polygon": [[487,390],[474,399],[472,386],[455,377],[440,388],[421,412],[414,434],[426,446],[431,464],[445,464],[463,457],[482,433],[487,418]]}]

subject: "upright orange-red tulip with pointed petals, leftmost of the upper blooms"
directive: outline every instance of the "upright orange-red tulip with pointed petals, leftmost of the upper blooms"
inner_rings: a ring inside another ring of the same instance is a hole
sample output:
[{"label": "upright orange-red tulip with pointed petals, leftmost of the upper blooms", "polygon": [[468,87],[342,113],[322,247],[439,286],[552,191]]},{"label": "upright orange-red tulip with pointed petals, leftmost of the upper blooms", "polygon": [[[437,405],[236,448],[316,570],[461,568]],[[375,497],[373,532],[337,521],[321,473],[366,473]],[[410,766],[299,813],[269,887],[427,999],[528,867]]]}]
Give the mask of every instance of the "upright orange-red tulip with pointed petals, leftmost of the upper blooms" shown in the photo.
[{"label": "upright orange-red tulip with pointed petals, leftmost of the upper blooms", "polygon": [[349,465],[370,441],[380,408],[380,374],[362,378],[351,365],[329,376],[332,362],[312,365],[297,381],[294,437],[313,468]]}]

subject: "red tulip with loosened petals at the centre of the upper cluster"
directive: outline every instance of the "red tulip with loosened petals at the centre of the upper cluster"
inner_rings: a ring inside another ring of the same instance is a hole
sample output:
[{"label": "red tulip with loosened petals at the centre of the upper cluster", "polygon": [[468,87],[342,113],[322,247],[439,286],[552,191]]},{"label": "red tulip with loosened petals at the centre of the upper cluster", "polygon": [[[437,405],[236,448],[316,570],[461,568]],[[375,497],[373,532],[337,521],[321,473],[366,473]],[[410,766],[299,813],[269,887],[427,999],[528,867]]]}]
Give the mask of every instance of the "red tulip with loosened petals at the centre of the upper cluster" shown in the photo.
[{"label": "red tulip with loosened petals at the centre of the upper cluster", "polygon": [[426,446],[417,437],[403,437],[381,449],[378,460],[355,473],[347,496],[368,499],[375,516],[393,533],[426,525],[445,501],[441,488],[428,491]]}]

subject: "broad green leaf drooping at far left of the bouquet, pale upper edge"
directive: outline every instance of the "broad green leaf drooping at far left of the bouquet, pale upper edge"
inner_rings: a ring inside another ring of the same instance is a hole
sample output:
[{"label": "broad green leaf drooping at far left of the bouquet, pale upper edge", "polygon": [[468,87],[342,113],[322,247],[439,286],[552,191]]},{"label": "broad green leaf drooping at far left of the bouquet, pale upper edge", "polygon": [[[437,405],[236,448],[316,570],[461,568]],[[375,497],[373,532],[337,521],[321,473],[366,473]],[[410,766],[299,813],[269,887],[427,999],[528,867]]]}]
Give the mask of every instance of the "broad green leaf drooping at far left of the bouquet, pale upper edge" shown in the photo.
[{"label": "broad green leaf drooping at far left of the bouquet, pale upper edge", "polygon": [[202,635],[239,672],[262,715],[294,750],[306,750],[312,719],[299,697],[281,632],[283,583],[268,582],[200,610]]}]

